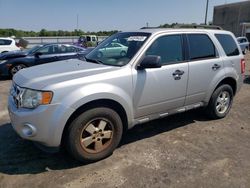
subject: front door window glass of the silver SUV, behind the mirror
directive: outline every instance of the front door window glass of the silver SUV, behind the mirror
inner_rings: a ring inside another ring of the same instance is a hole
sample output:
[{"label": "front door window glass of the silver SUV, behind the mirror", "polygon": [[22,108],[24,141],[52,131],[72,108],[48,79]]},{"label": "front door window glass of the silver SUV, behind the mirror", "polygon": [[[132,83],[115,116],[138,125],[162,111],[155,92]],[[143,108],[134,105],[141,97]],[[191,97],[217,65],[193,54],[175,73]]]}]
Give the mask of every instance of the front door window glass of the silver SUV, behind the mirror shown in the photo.
[{"label": "front door window glass of the silver SUV, behind the mirror", "polygon": [[146,51],[146,55],[161,57],[162,64],[172,64],[183,61],[182,37],[180,35],[168,35],[156,39]]}]

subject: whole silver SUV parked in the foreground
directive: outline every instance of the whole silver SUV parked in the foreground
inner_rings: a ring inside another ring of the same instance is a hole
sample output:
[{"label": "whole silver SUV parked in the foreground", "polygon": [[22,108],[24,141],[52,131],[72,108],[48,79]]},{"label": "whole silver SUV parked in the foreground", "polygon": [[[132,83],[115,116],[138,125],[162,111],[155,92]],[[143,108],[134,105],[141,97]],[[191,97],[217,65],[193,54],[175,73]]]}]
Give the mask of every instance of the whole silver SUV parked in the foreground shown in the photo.
[{"label": "whole silver SUV parked in the foreground", "polygon": [[111,155],[136,124],[198,107],[212,119],[225,117],[244,72],[244,56],[227,31],[120,32],[83,60],[18,72],[9,114],[22,138],[65,146],[76,159],[92,162]]}]

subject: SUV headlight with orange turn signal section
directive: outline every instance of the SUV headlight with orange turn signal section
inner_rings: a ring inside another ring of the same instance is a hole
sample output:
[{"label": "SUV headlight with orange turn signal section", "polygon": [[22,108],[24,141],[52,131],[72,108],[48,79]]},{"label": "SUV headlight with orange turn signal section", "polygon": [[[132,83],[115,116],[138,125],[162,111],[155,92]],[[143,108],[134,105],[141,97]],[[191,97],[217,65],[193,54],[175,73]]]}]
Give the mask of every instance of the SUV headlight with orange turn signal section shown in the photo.
[{"label": "SUV headlight with orange turn signal section", "polygon": [[20,107],[36,108],[39,105],[50,104],[53,93],[51,91],[37,91],[24,89],[20,94]]}]

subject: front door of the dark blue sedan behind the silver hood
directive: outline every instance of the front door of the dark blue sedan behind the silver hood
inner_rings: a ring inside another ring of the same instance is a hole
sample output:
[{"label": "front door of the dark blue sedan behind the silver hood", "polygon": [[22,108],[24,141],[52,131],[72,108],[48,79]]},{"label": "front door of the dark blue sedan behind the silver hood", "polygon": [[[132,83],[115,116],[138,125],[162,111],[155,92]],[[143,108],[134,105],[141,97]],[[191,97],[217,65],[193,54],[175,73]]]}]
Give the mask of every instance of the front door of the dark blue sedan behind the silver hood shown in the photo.
[{"label": "front door of the dark blue sedan behind the silver hood", "polygon": [[58,61],[59,49],[57,44],[46,45],[36,51],[35,64],[44,64],[49,62]]}]

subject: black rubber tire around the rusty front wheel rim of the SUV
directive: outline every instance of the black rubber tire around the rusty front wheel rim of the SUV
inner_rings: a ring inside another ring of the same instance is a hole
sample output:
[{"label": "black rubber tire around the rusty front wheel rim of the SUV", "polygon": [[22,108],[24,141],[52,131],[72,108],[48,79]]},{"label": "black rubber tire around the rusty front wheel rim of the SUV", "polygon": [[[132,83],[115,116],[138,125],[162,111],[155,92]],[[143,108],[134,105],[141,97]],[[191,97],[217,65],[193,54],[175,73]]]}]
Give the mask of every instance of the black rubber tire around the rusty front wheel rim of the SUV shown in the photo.
[{"label": "black rubber tire around the rusty front wheel rim of the SUV", "polygon": [[[104,151],[91,154],[85,151],[80,143],[80,135],[85,126],[94,118],[102,117],[108,119],[114,126],[113,138]],[[71,124],[68,136],[68,149],[70,153],[79,161],[94,162],[111,155],[118,146],[122,137],[122,121],[119,115],[109,108],[94,108],[80,114]]]}]

